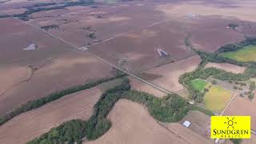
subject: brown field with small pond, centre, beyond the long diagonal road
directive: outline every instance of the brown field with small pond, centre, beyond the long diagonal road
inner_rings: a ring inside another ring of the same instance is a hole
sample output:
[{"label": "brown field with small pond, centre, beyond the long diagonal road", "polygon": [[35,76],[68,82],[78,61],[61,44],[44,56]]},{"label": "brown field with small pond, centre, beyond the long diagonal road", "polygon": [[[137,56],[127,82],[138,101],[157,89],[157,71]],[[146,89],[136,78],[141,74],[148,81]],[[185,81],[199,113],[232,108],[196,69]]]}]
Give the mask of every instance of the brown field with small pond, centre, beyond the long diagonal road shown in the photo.
[{"label": "brown field with small pond, centre, beyond the long diagonal road", "polygon": [[[125,70],[141,72],[192,56],[185,37],[180,23],[165,22],[90,46],[88,51]],[[159,49],[168,55],[160,56]]]}]

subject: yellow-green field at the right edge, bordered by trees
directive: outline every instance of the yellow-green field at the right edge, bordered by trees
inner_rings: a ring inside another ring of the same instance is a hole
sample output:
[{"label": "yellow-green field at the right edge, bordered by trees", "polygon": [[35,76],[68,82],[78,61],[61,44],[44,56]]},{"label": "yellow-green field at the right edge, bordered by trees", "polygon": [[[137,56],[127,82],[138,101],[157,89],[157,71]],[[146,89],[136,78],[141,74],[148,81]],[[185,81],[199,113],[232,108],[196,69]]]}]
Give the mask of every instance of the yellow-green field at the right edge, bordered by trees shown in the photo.
[{"label": "yellow-green field at the right edge, bordered by trees", "polygon": [[256,62],[256,46],[244,46],[240,50],[222,53],[220,56],[241,62]]}]

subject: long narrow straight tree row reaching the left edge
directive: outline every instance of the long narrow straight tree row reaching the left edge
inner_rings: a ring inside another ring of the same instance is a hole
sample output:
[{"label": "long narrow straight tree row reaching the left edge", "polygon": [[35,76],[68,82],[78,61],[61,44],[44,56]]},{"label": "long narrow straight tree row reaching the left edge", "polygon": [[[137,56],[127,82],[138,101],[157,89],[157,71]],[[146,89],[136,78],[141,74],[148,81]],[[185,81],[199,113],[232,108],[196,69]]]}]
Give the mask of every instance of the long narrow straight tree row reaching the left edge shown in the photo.
[{"label": "long narrow straight tree row reaching the left edge", "polygon": [[100,78],[97,81],[86,82],[85,84],[79,85],[79,86],[72,86],[66,90],[60,90],[60,91],[54,92],[52,94],[49,94],[48,96],[46,96],[44,98],[39,98],[39,99],[31,101],[31,102],[26,102],[25,104],[18,107],[17,109],[0,117],[0,126],[2,124],[6,123],[7,121],[9,121],[11,118],[14,118],[15,116],[17,116],[18,114],[22,114],[26,111],[36,109],[40,106],[45,105],[46,103],[53,102],[53,101],[57,100],[58,98],[62,98],[64,96],[66,96],[67,94],[73,94],[73,93],[81,91],[81,90],[90,89],[91,87],[97,86],[103,82],[109,82],[111,80],[114,80],[115,78],[122,78],[125,75],[126,74],[118,73],[118,75],[115,75],[114,77]]}]

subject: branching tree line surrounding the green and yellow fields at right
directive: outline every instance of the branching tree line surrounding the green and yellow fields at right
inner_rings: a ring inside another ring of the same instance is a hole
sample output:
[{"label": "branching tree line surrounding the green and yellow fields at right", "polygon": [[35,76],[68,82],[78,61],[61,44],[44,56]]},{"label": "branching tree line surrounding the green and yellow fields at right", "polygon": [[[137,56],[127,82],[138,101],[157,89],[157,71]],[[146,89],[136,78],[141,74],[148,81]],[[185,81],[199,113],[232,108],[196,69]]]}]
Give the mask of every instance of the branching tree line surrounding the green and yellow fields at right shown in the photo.
[{"label": "branching tree line surrounding the green and yellow fields at right", "polygon": [[[179,82],[183,86],[187,87],[187,89],[190,92],[190,98],[194,99],[195,102],[202,102],[205,92],[195,90],[190,85],[190,81],[193,79],[196,79],[196,78],[206,79],[206,78],[209,78],[210,76],[213,76],[214,78],[224,80],[224,81],[225,80],[226,81],[246,81],[256,76],[255,62],[238,62],[233,59],[222,58],[221,56],[219,56],[219,54],[223,52],[239,50],[239,49],[242,49],[242,47],[248,46],[248,45],[256,45],[256,38],[246,37],[244,41],[222,46],[214,53],[209,53],[209,52],[194,49],[194,47],[190,45],[190,42],[188,39],[186,39],[185,42],[186,42],[186,46],[190,46],[190,48],[194,50],[194,52],[196,52],[202,58],[202,62],[199,64],[196,70],[186,74],[182,74],[182,76],[179,77]],[[234,74],[234,73],[226,72],[225,70],[220,70],[214,67],[205,69],[204,66],[206,66],[207,62],[216,62],[216,63],[228,62],[237,66],[246,66],[247,68],[243,74]],[[250,94],[250,96],[252,96],[252,94]]]}]

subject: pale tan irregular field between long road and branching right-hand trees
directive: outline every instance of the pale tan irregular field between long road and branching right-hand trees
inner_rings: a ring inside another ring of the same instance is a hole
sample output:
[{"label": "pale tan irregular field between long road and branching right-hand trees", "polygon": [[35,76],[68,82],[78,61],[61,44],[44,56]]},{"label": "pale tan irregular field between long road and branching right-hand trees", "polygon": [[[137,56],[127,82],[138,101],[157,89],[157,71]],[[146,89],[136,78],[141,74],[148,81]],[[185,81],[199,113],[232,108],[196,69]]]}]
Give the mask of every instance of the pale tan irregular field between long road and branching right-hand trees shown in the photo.
[{"label": "pale tan irregular field between long road and branching right-hand trees", "polygon": [[164,66],[155,67],[147,70],[147,74],[158,74],[161,77],[152,80],[155,85],[162,86],[166,90],[177,92],[183,89],[182,84],[178,82],[178,78],[186,72],[193,71],[201,62],[199,56],[182,59]]}]

